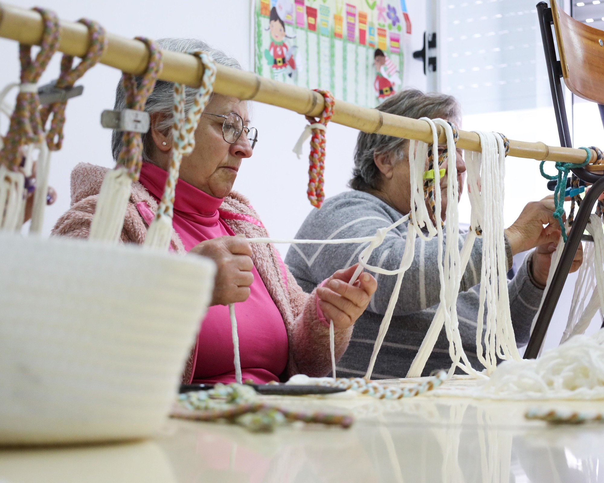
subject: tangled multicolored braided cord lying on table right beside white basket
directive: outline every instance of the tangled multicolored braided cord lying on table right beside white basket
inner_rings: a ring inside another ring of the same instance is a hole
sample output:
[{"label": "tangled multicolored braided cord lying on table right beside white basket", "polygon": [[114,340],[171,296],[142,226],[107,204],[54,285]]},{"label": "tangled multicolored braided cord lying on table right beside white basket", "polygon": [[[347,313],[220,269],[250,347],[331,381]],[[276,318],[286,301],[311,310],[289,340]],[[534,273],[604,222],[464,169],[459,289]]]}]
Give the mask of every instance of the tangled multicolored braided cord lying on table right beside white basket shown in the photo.
[{"label": "tangled multicolored braided cord lying on table right beside white basket", "polygon": [[195,421],[226,420],[254,432],[269,432],[288,421],[320,423],[350,427],[353,418],[347,414],[330,412],[304,412],[272,406],[257,401],[251,386],[231,383],[216,384],[210,391],[187,392],[178,397],[180,408],[172,411],[172,417]]}]

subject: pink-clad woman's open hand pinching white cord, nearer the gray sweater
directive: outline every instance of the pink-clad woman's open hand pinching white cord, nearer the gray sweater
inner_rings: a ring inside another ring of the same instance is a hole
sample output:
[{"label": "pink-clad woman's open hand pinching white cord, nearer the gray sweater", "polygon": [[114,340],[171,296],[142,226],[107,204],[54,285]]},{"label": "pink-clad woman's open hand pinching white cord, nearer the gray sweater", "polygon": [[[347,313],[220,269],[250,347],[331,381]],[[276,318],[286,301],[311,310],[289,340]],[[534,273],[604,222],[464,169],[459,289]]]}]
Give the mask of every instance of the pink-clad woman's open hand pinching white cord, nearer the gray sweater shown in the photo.
[{"label": "pink-clad woman's open hand pinching white cord, nearer the gray sweater", "polygon": [[376,279],[367,272],[361,273],[352,285],[350,278],[358,264],[335,272],[323,287],[316,289],[319,307],[326,319],[333,321],[335,328],[348,328],[367,309],[377,289]]}]

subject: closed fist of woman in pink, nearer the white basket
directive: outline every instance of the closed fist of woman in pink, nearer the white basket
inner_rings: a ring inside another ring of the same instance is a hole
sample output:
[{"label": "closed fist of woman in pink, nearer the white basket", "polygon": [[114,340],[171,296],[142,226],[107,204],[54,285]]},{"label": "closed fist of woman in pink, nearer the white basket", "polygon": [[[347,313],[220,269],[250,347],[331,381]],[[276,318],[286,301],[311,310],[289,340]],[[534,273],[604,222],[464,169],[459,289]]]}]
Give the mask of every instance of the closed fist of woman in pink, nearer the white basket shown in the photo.
[{"label": "closed fist of woman in pink, nearer the white basket", "polygon": [[210,305],[245,302],[254,282],[252,248],[245,237],[219,237],[205,240],[190,252],[211,258],[216,263],[214,292]]}]

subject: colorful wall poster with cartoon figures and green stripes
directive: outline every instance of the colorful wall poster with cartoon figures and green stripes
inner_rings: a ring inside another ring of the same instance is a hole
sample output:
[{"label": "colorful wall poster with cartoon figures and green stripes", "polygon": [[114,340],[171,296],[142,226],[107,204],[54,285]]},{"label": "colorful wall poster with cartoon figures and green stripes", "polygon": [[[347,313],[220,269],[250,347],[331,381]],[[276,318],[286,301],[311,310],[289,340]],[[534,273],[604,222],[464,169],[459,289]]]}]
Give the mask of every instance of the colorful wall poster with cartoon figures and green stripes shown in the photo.
[{"label": "colorful wall poster with cartoon figures and green stripes", "polygon": [[405,0],[257,0],[255,72],[375,107],[400,89]]}]

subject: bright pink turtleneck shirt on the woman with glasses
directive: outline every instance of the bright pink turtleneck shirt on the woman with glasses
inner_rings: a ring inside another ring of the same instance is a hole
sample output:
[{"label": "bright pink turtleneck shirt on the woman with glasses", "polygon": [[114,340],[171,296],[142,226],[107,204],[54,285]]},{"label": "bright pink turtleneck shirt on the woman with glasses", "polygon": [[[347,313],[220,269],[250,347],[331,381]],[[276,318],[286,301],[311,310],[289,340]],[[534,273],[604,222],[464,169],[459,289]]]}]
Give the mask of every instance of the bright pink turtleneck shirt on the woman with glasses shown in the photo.
[{"label": "bright pink turtleneck shirt on the woman with glasses", "polygon": [[[167,176],[161,168],[143,163],[139,181],[159,202]],[[187,252],[201,241],[235,235],[220,218],[218,208],[222,201],[222,198],[178,181],[172,226]],[[252,379],[262,384],[278,381],[279,374],[284,371],[288,360],[288,334],[277,305],[255,267],[252,274],[254,283],[249,298],[235,304],[235,315],[243,380]],[[231,319],[225,305],[210,307],[201,323],[193,382],[235,382]]]}]

